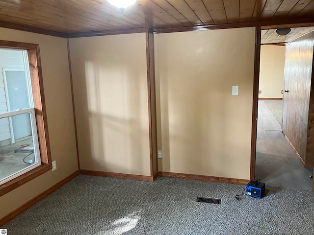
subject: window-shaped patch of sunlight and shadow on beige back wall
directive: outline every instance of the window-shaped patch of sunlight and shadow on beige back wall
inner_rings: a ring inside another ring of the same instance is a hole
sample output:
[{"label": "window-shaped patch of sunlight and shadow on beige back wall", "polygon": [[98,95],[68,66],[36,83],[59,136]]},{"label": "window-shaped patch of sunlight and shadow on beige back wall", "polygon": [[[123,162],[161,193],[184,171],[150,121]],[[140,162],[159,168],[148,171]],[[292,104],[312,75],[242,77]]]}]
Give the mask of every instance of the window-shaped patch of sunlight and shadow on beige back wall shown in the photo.
[{"label": "window-shaped patch of sunlight and shadow on beige back wall", "polygon": [[130,174],[145,171],[142,159],[149,159],[145,151],[149,145],[145,146],[148,126],[141,120],[147,114],[139,102],[144,98],[138,92],[143,89],[140,75],[130,74],[126,66],[104,67],[91,61],[85,62],[84,69],[81,82],[86,90],[80,91],[79,110],[85,112],[80,112],[78,128],[82,168]]}]

